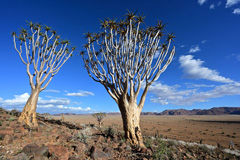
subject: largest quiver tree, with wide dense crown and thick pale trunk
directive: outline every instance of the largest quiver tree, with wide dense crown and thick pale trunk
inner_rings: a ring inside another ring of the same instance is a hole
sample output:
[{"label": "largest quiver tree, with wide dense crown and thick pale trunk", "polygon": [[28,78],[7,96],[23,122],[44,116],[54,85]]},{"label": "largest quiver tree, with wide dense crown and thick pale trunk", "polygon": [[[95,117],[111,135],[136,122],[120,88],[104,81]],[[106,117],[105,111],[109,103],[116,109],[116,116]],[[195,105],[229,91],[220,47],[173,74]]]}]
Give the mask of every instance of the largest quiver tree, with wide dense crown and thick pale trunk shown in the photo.
[{"label": "largest quiver tree, with wide dense crown and thick pale trunk", "polygon": [[170,50],[175,36],[166,33],[161,21],[155,27],[142,28],[144,18],[128,12],[119,22],[101,21],[102,32],[86,33],[87,52],[80,53],[89,76],[101,83],[118,104],[125,138],[140,146],[144,146],[140,114],[148,88],[166,70],[175,54],[175,47]]}]

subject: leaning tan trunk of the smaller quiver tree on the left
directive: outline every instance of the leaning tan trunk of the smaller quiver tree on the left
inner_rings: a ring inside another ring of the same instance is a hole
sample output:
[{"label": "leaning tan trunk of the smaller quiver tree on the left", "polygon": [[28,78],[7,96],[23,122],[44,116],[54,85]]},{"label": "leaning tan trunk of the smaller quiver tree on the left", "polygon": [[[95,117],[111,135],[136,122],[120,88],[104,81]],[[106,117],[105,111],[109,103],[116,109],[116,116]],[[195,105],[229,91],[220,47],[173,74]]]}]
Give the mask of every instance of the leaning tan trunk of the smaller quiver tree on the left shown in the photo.
[{"label": "leaning tan trunk of the smaller quiver tree on the left", "polygon": [[26,105],[23,108],[23,111],[18,119],[21,123],[26,123],[30,127],[37,127],[37,119],[36,119],[36,108],[38,96],[40,93],[40,87],[36,87],[32,90],[30,97],[27,100]]}]

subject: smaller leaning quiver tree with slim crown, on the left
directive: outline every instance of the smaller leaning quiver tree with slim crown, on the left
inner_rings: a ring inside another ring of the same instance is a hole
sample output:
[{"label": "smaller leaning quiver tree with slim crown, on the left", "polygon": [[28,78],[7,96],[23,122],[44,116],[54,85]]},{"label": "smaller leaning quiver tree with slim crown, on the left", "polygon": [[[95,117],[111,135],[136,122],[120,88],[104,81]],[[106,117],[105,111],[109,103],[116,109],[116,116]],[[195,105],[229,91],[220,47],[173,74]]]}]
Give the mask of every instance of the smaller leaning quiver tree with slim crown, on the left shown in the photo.
[{"label": "smaller leaning quiver tree with slim crown, on the left", "polygon": [[[61,40],[48,26],[28,22],[29,29],[12,33],[15,50],[26,65],[31,95],[23,108],[19,122],[37,127],[36,108],[38,96],[46,89],[63,64],[72,56],[75,47],[68,49],[69,41]],[[16,39],[19,40],[17,48]],[[25,52],[25,53],[24,53]]]}]

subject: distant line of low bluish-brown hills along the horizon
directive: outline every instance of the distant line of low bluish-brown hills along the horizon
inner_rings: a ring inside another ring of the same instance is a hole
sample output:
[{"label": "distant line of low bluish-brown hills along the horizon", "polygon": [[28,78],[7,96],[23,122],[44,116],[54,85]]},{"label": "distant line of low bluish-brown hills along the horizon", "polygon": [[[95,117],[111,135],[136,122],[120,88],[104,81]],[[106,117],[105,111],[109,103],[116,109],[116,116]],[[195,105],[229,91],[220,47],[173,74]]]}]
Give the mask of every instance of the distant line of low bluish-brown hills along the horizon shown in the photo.
[{"label": "distant line of low bluish-brown hills along the horizon", "polygon": [[[80,115],[75,113],[58,113],[53,114],[53,116],[64,115]],[[107,115],[120,115],[120,112],[109,112]],[[142,112],[141,115],[227,115],[227,114],[236,114],[240,115],[240,107],[214,107],[211,109],[174,109],[174,110],[165,110],[163,112]],[[91,115],[91,114],[90,114]]]}]

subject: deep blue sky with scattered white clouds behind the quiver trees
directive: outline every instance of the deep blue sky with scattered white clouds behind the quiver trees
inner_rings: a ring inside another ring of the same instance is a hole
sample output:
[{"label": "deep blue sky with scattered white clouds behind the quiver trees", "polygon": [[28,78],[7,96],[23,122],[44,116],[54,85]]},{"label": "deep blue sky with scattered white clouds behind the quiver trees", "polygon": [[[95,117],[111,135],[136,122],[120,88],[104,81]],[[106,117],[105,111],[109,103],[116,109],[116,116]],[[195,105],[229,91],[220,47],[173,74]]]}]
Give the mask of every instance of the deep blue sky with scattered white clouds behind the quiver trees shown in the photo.
[{"label": "deep blue sky with scattered white clouds behind the quiver trees", "polygon": [[240,106],[240,0],[1,1],[0,106],[22,110],[31,91],[10,35],[27,20],[51,26],[77,47],[40,93],[37,112],[118,112],[78,52],[86,43],[83,33],[98,32],[99,19],[122,18],[126,9],[144,13],[147,26],[162,20],[177,37],[177,54],[150,87],[143,111]]}]

